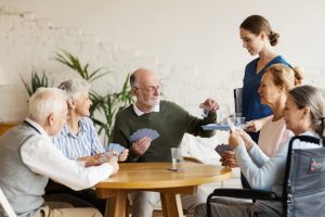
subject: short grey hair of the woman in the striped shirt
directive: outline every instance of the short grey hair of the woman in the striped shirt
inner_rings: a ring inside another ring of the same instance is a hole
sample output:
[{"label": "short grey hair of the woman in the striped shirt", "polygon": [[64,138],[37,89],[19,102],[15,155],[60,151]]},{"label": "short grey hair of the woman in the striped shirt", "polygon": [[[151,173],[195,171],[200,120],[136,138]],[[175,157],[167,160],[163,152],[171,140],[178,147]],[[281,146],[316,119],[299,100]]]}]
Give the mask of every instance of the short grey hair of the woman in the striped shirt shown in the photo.
[{"label": "short grey hair of the woman in the striped shirt", "polygon": [[89,92],[90,85],[87,80],[73,78],[63,81],[58,88],[65,90],[69,98],[76,100],[80,93]]}]

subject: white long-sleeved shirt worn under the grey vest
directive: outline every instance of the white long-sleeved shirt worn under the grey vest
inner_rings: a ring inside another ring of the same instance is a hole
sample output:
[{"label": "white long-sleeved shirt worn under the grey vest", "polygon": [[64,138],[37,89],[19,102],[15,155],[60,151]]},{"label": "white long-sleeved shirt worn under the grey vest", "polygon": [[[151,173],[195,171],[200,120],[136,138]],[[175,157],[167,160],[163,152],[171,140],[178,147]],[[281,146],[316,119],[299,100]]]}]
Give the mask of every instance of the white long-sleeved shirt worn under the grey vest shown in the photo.
[{"label": "white long-sleeved shirt worn under the grey vest", "polygon": [[113,166],[108,163],[86,168],[78,162],[68,159],[54,146],[40,125],[29,118],[25,120],[40,133],[40,137],[32,137],[26,141],[21,149],[23,163],[34,173],[77,191],[91,188],[112,175]]}]

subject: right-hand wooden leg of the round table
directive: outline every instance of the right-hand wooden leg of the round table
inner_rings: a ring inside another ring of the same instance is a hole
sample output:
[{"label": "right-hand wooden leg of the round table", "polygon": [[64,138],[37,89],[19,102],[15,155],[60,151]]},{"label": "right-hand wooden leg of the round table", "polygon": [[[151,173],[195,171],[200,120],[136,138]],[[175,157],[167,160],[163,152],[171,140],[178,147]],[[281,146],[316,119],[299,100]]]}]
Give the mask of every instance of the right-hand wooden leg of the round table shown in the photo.
[{"label": "right-hand wooden leg of the round table", "polygon": [[160,193],[164,217],[183,217],[180,194]]}]

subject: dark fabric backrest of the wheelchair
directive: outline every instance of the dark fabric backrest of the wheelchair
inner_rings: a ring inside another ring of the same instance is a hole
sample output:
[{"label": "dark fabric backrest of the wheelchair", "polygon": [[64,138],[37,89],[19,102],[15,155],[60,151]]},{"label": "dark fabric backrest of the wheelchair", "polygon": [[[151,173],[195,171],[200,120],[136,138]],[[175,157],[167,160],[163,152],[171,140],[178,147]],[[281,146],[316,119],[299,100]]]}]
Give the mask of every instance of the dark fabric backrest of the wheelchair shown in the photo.
[{"label": "dark fabric backrest of the wheelchair", "polygon": [[[292,149],[294,141],[322,145],[318,149]],[[283,216],[325,215],[325,148],[322,140],[310,136],[294,137],[288,146]]]}]

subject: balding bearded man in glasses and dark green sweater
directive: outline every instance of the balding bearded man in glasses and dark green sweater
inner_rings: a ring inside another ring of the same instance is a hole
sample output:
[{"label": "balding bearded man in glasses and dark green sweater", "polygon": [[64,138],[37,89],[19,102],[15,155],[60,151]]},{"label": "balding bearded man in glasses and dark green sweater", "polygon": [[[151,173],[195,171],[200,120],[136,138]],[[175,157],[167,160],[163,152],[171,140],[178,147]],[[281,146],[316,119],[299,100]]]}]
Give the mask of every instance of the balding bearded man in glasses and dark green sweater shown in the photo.
[{"label": "balding bearded man in glasses and dark green sweater", "polygon": [[[136,69],[130,77],[130,85],[136,101],[117,114],[113,132],[113,142],[130,150],[127,162],[171,162],[170,148],[180,146],[185,132],[213,136],[213,131],[204,131],[200,127],[216,123],[219,105],[213,100],[207,99],[199,105],[208,111],[208,115],[197,118],[176,103],[160,100],[161,85],[154,72]],[[144,135],[136,141],[132,140],[131,136],[144,128],[156,130],[158,138],[152,140]],[[195,196],[182,195],[181,199],[183,208],[190,214],[197,204],[206,201],[200,191]],[[132,193],[132,216],[150,217],[154,204],[159,201],[159,193],[139,191]]]}]

